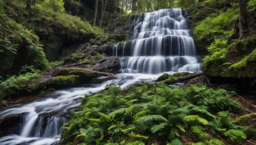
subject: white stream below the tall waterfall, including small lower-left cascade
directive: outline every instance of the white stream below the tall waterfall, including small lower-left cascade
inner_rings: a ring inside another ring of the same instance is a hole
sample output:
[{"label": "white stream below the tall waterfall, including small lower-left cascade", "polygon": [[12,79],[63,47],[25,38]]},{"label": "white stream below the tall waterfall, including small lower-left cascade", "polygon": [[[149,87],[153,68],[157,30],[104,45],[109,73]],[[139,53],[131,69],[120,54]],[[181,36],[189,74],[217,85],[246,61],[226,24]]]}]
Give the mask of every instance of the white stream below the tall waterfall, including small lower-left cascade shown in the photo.
[{"label": "white stream below the tall waterfall, including small lower-left cascade", "polygon": [[[101,92],[106,85],[118,85],[124,89],[143,80],[156,79],[157,76],[159,75],[118,74],[115,79],[104,81],[100,85],[59,90],[52,93],[47,99],[10,107],[10,109],[0,112],[1,118],[12,114],[27,114],[23,117],[20,134],[4,136],[0,138],[0,144],[52,144],[52,142],[59,140],[63,132],[61,127],[67,122],[67,119],[59,114],[67,113],[70,109],[79,106],[81,104],[79,99],[83,98],[84,95]],[[57,114],[44,117],[39,115],[42,113]]]}]

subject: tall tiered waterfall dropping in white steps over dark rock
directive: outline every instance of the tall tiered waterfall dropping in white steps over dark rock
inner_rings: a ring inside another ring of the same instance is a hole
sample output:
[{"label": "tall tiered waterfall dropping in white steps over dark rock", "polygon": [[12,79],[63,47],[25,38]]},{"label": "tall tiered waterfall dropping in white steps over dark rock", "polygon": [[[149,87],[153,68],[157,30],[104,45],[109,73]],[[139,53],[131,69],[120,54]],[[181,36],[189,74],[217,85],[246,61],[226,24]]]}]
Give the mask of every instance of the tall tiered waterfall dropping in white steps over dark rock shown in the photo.
[{"label": "tall tiered waterfall dropping in white steps over dark rock", "polygon": [[113,56],[120,57],[122,73],[201,71],[196,46],[181,9],[143,13],[133,25],[131,39],[113,48]]}]

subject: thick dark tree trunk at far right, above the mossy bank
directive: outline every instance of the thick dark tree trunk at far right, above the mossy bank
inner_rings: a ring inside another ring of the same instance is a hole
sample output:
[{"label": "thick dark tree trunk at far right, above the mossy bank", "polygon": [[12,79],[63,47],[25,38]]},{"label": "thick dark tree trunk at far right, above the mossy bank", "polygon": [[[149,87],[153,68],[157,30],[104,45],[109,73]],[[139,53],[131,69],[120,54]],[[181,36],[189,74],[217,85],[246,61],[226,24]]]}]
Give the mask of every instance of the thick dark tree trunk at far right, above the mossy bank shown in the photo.
[{"label": "thick dark tree trunk at far right, above the mossy bank", "polygon": [[247,0],[238,0],[239,4],[239,22],[238,22],[238,28],[239,28],[239,39],[242,39],[245,34],[248,33],[248,24],[246,22],[248,18],[248,13],[246,11],[246,3]]}]

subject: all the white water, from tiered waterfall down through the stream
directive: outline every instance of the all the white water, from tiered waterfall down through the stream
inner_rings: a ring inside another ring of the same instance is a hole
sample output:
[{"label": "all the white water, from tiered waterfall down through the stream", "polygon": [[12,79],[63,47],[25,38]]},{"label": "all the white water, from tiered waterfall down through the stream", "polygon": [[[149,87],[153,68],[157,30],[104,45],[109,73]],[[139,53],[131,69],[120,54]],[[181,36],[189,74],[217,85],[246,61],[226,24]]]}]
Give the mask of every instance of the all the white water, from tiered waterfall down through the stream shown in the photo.
[{"label": "all the white water, from tiered waterfall down through the stream", "polygon": [[62,114],[79,106],[84,95],[104,91],[106,85],[124,89],[140,81],[154,80],[164,72],[201,71],[182,10],[143,13],[134,19],[133,25],[129,41],[117,43],[113,48],[113,55],[120,58],[121,74],[102,84],[58,90],[45,99],[0,111],[0,118],[25,113],[18,133],[1,137],[0,144],[38,145],[58,141],[63,132],[61,126],[67,122]]}]

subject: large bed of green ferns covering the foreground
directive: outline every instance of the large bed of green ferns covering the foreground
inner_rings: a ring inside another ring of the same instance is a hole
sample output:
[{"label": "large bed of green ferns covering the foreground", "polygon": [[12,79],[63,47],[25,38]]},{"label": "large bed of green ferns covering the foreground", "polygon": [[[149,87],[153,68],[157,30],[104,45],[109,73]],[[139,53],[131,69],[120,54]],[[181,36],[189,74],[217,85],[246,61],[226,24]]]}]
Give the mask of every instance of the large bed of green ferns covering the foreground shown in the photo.
[{"label": "large bed of green ferns covering the foreground", "polygon": [[227,91],[207,86],[144,83],[125,91],[108,86],[105,93],[84,97],[64,126],[62,143],[83,136],[86,144],[182,144],[179,137],[186,135],[202,144],[223,144],[221,139],[234,144],[246,139],[244,127],[228,116],[239,108]]}]

